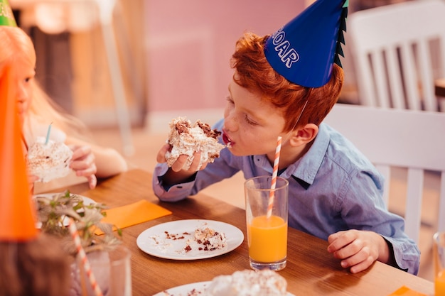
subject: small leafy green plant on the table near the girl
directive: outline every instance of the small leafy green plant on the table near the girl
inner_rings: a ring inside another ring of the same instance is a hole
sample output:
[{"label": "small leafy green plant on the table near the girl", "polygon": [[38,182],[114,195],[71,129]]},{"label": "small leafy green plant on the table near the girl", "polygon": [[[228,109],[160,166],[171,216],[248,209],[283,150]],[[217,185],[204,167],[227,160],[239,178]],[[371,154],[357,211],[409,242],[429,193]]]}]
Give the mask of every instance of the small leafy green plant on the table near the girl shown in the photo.
[{"label": "small leafy green plant on the table near the girl", "polygon": [[[106,216],[104,204],[85,204],[80,195],[69,191],[52,196],[36,195],[38,220],[41,231],[58,236],[68,253],[75,253],[75,244],[68,229],[69,219],[73,219],[85,252],[108,250],[122,243],[122,231],[113,231],[113,225],[101,222]],[[97,231],[103,232],[98,235]]]}]

